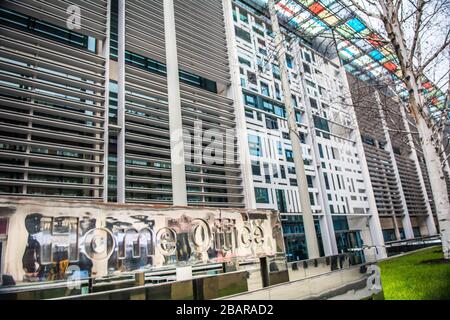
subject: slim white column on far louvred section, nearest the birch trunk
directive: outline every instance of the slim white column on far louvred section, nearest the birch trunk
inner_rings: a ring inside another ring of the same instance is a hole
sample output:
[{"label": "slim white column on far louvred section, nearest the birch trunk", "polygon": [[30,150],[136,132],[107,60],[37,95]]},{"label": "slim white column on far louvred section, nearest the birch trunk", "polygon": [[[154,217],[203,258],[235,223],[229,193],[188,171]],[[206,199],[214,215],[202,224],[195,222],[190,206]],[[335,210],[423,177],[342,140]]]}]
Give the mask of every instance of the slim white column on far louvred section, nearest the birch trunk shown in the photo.
[{"label": "slim white column on far louvred section, nearest the birch trunk", "polygon": [[[417,156],[417,151],[414,146],[414,139],[411,134],[411,128],[409,126],[408,118],[406,117],[405,106],[403,104],[400,105],[400,113],[402,115],[404,127],[407,132],[406,135],[407,135],[407,139],[408,139],[408,144],[411,146],[410,158],[411,158],[411,160],[414,161],[414,164],[416,165],[417,175],[419,176],[420,189],[422,190],[423,198],[425,199],[425,205],[427,207],[426,223],[427,223],[428,233],[430,236],[433,236],[433,235],[437,234],[436,225],[434,224],[433,211],[431,210],[430,200],[428,199],[427,188],[425,187],[425,181],[423,180],[422,168],[420,167],[419,158]],[[413,233],[413,238],[414,238],[414,233]]]}]

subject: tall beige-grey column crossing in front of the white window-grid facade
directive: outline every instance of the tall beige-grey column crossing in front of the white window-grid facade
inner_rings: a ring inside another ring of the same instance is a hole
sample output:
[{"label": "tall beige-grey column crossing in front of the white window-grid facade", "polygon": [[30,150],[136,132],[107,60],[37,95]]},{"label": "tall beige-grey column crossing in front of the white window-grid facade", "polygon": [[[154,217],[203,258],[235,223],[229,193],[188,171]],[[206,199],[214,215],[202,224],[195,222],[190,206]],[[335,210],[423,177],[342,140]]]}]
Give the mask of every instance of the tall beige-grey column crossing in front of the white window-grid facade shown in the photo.
[{"label": "tall beige-grey column crossing in front of the white window-grid facade", "polygon": [[305,229],[305,239],[308,248],[308,256],[314,259],[320,256],[317,244],[316,229],[314,227],[314,217],[309,200],[308,182],[303,163],[303,153],[298,135],[297,121],[295,111],[292,106],[292,94],[289,86],[289,74],[286,67],[286,48],[283,43],[283,34],[278,23],[278,16],[275,9],[274,0],[269,0],[269,12],[272,20],[272,28],[275,34],[275,49],[278,51],[278,63],[280,65],[281,85],[284,92],[284,104],[288,117],[289,136],[292,141],[292,151],[294,153],[295,171],[298,181],[298,192],[300,196],[300,205],[302,208],[303,225]]}]

